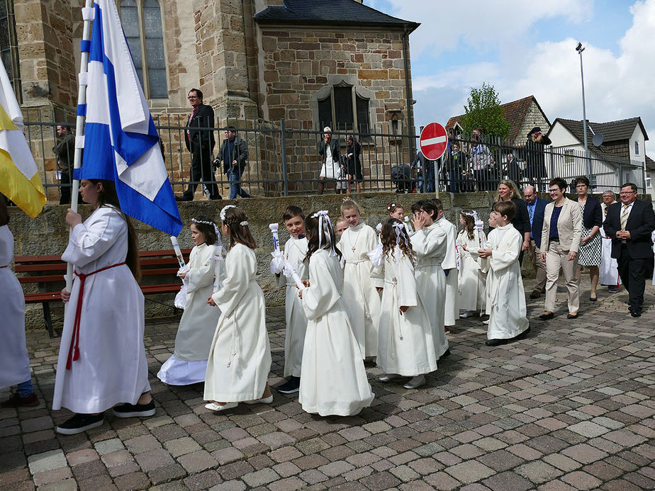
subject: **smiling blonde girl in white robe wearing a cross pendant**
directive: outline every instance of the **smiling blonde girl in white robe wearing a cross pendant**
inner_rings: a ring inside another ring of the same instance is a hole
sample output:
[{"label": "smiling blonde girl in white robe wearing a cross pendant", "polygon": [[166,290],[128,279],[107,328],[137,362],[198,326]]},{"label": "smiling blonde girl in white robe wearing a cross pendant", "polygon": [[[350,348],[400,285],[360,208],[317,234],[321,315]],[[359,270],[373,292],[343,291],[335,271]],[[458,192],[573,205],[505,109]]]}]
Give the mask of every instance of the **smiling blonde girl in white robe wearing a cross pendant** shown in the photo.
[{"label": "smiling blonde girl in white robe wearing a cross pendant", "polygon": [[371,278],[373,263],[368,253],[375,249],[379,239],[372,227],[360,222],[357,203],[345,200],[341,213],[349,225],[337,244],[345,261],[344,299],[362,356],[369,358],[376,356],[378,349],[380,295],[376,287],[381,288],[384,281]]}]

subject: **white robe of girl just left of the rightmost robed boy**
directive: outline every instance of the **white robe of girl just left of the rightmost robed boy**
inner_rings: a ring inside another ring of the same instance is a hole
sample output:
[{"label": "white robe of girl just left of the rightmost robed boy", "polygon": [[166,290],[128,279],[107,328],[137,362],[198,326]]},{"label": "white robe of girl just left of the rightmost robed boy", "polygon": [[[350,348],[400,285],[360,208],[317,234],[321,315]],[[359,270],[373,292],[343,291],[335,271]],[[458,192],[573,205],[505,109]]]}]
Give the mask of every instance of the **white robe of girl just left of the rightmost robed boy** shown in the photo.
[{"label": "white robe of girl just left of the rightmost robed boy", "polygon": [[[484,246],[487,237],[482,230],[474,228],[473,238],[469,232],[461,230],[457,235],[457,248],[461,264],[459,266],[459,308],[467,311],[484,312],[486,305],[486,275],[478,264],[478,249]],[[466,246],[464,248],[463,246]]]}]

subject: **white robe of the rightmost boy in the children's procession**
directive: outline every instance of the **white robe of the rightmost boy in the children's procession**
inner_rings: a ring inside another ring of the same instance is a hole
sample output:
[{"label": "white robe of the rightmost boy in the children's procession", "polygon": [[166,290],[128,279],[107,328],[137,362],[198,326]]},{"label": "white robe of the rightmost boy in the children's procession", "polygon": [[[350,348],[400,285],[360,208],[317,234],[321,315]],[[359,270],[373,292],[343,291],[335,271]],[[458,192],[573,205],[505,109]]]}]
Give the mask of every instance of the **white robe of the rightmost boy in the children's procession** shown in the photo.
[{"label": "white robe of the rightmost boy in the children's procession", "polygon": [[487,273],[487,339],[511,339],[530,327],[518,264],[522,244],[522,235],[509,223],[489,232],[482,249],[491,249],[491,256],[478,257],[482,271]]}]

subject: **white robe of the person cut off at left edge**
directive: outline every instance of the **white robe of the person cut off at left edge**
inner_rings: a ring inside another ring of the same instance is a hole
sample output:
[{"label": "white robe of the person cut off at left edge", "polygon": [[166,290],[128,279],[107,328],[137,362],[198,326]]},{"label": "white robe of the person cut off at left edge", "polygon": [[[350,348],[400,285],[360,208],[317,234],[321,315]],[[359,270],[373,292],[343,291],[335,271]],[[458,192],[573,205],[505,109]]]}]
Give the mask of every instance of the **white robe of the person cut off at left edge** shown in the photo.
[{"label": "white robe of the person cut off at left edge", "polygon": [[0,227],[0,389],[30,380],[30,357],[25,341],[25,297],[9,264],[13,235]]}]

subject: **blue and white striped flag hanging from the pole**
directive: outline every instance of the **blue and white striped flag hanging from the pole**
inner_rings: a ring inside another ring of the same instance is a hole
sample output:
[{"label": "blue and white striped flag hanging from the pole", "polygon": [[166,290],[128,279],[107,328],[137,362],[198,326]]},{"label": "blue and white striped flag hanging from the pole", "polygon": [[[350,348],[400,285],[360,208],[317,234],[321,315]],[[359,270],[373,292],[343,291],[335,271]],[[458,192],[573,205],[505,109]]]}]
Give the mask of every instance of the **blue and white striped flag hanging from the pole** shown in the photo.
[{"label": "blue and white striped flag hanging from the pole", "polygon": [[84,161],[76,177],[116,182],[123,212],[169,235],[182,222],[113,0],[96,0],[86,86]]}]

